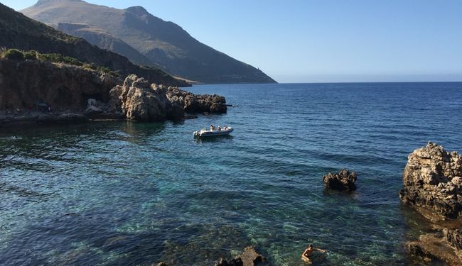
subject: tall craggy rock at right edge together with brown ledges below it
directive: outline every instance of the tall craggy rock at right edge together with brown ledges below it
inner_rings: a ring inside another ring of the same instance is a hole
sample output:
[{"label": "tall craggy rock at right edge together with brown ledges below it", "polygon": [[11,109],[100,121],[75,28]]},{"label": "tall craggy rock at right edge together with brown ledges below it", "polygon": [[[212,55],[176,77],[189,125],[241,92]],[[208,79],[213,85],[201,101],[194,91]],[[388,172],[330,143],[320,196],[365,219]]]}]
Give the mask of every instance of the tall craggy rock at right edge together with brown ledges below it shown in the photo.
[{"label": "tall craggy rock at right edge together with brown ledges below it", "polygon": [[462,156],[436,143],[414,150],[403,173],[401,200],[433,223],[407,243],[411,255],[462,265]]}]

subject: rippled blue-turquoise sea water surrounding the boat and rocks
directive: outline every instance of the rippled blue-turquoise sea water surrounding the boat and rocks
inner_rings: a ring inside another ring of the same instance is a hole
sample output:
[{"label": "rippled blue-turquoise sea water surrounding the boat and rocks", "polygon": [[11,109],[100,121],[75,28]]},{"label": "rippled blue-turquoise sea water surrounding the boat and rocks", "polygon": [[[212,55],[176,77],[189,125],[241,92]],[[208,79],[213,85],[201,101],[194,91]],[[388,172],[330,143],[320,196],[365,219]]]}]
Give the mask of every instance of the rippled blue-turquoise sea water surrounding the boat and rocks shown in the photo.
[{"label": "rippled blue-turquoise sea water surrounding the boat and rocks", "polygon": [[[425,221],[399,203],[407,155],[462,151],[461,83],[204,85],[234,104],[178,123],[0,128],[0,265],[407,265]],[[229,138],[197,141],[210,124]],[[348,167],[358,191],[325,192]]]}]

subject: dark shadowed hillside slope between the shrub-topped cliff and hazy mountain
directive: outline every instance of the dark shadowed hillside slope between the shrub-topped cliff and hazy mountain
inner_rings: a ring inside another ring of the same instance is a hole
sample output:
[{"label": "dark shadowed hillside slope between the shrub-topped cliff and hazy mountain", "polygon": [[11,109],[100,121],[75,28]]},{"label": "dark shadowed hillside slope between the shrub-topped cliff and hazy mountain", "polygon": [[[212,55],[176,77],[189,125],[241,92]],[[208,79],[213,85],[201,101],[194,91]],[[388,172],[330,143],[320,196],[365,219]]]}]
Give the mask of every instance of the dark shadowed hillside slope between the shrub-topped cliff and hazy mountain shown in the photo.
[{"label": "dark shadowed hillside slope between the shrub-topped cliff and hazy mountain", "polygon": [[134,65],[127,57],[98,48],[82,38],[57,31],[3,4],[0,4],[0,48],[59,53],[75,57],[82,62],[108,67],[122,75],[138,74],[151,82],[175,86],[187,85],[162,70]]}]

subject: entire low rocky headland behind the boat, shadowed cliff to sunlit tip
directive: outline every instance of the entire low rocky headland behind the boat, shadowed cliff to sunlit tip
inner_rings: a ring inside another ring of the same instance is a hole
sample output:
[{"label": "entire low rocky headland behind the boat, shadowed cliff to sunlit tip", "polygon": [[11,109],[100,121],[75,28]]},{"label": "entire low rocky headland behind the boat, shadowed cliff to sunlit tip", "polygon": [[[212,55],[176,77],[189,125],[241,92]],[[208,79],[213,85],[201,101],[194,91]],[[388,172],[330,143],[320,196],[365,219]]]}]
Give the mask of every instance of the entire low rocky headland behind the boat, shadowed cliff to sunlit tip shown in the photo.
[{"label": "entire low rocky headland behind the boat, shadowed cliff to sunlit tip", "polygon": [[150,84],[134,74],[122,79],[78,65],[0,59],[0,125],[92,119],[164,121],[183,119],[187,113],[226,111],[222,96]]}]

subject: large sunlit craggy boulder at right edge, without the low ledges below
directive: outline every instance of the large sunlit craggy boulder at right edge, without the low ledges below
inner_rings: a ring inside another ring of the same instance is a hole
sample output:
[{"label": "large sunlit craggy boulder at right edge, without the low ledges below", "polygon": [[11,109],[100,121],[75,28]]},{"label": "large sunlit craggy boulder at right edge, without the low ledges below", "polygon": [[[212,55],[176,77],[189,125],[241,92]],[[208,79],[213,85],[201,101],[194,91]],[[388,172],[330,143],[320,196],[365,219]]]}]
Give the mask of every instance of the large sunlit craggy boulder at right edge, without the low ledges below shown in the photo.
[{"label": "large sunlit craggy boulder at right edge, without the low ledges below", "polygon": [[428,143],[409,155],[399,197],[444,218],[462,217],[462,156]]}]

